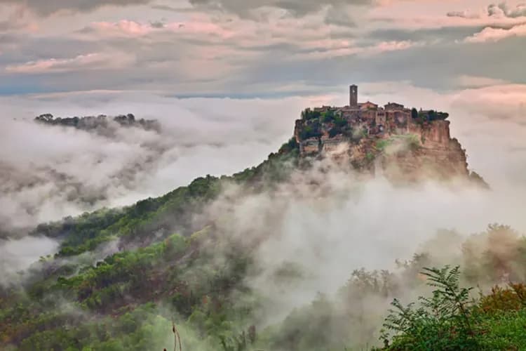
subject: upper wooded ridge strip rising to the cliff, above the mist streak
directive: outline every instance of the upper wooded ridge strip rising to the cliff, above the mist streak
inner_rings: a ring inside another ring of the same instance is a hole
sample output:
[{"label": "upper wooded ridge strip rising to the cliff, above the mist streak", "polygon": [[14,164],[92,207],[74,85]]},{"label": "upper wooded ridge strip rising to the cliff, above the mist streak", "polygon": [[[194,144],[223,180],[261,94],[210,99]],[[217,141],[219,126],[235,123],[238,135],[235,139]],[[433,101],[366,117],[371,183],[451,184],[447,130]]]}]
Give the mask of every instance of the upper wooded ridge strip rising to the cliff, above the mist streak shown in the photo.
[{"label": "upper wooded ridge strip rising to the cliff, above the mist streak", "polygon": [[32,234],[62,239],[55,257],[93,251],[115,239],[120,239],[121,249],[126,249],[137,242],[147,245],[174,231],[188,236],[206,224],[192,223],[193,214],[215,199],[225,185],[243,185],[248,191],[269,189],[290,176],[297,166],[297,155],[298,145],[291,138],[278,153],[270,154],[267,161],[233,176],[196,178],[187,187],[179,187],[162,197],[144,199],[126,208],[102,208],[77,218],[42,224]]}]

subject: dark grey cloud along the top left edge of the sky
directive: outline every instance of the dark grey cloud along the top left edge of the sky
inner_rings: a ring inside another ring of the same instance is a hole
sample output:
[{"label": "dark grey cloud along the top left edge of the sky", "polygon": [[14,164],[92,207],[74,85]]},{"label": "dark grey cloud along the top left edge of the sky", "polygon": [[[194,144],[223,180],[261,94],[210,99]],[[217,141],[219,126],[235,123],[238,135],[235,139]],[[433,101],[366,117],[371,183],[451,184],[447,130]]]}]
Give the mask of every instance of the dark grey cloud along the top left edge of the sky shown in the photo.
[{"label": "dark grey cloud along the top left edge of the sky", "polygon": [[0,5],[22,5],[29,11],[48,16],[61,11],[86,12],[102,6],[144,5],[150,2],[151,0],[0,0]]}]

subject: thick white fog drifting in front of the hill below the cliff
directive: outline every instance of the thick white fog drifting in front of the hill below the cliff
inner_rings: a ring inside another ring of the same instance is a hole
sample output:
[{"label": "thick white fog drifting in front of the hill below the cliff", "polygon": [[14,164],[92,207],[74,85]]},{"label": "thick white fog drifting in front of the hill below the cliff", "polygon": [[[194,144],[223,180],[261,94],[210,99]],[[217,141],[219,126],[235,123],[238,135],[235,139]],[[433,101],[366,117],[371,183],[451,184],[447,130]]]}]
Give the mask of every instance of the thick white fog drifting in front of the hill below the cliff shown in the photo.
[{"label": "thick white fog drifting in front of the hill below the cliff", "polygon": [[[460,264],[461,242],[491,223],[526,232],[525,193],[517,190],[431,180],[396,187],[382,177],[360,180],[325,160],[278,190],[246,194],[227,188],[204,216],[219,218],[220,232],[236,242],[257,242],[260,270],[249,284],[268,299],[267,317],[276,322],[318,293],[334,296],[361,267],[396,271],[396,260],[414,253],[429,253],[438,265]],[[458,239],[437,237],[448,230],[460,233]],[[276,283],[276,272],[291,264],[304,276]]]}]

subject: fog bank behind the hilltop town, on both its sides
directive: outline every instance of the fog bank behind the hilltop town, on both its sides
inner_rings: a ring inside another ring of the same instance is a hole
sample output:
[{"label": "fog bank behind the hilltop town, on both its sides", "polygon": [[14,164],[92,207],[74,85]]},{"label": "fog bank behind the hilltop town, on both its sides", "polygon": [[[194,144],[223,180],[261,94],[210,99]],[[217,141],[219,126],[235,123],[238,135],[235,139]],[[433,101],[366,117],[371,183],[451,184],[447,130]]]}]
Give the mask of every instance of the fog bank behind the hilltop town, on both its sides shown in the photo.
[{"label": "fog bank behind the hilltop town, on both its sides", "polygon": [[[461,81],[481,84],[480,77]],[[524,183],[516,178],[526,172],[522,169],[526,152],[515,151],[513,159],[506,155],[512,149],[526,150],[525,86],[440,94],[396,81],[361,84],[360,91],[361,100],[396,100],[450,112],[452,133],[468,150],[471,167],[497,188],[510,178]],[[344,89],[337,95],[267,100],[177,99],[111,91],[4,98],[0,222],[4,227],[25,227],[102,206],[131,204],[187,185],[198,176],[255,166],[290,138],[302,109],[344,105],[346,100]],[[46,112],[55,116],[133,112],[137,118],[159,119],[162,131],[124,129],[109,138],[24,120]],[[506,138],[494,133],[496,128]]]}]

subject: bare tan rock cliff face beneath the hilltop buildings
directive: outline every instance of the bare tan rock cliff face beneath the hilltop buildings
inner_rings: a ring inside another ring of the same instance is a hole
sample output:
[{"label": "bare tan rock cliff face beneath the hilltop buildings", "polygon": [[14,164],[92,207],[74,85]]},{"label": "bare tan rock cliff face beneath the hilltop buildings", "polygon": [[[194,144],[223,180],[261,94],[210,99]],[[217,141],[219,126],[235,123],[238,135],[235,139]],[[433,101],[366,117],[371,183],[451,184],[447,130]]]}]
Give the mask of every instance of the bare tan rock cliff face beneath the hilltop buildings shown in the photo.
[{"label": "bare tan rock cliff face beneath the hilltop buildings", "polygon": [[394,181],[469,177],[466,152],[451,138],[449,121],[410,120],[386,129],[371,133],[370,125],[355,123],[335,134],[332,123],[300,119],[294,137],[302,158],[331,157]]}]

